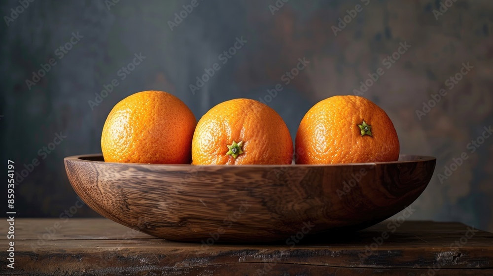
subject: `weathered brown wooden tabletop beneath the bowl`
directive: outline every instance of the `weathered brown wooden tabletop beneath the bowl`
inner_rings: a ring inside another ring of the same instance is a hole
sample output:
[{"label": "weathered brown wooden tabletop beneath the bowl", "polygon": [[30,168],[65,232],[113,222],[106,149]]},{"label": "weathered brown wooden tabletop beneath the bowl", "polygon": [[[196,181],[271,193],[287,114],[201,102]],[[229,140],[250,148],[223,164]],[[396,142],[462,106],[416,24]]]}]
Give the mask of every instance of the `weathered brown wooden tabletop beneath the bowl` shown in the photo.
[{"label": "weathered brown wooden tabletop beneath the bowl", "polygon": [[9,275],[493,275],[493,234],[452,222],[387,221],[289,245],[209,246],[103,218],[17,218],[14,270],[6,259],[12,240],[1,239],[0,273]]}]

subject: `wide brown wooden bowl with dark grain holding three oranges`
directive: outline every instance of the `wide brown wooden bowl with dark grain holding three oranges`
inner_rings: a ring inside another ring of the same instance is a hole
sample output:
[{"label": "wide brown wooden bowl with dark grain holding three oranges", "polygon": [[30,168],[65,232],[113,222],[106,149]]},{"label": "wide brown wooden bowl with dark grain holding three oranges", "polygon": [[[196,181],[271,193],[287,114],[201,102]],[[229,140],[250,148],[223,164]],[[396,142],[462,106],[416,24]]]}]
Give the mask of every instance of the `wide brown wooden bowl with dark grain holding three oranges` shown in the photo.
[{"label": "wide brown wooden bowl with dark grain holding three oranges", "polygon": [[436,158],[337,165],[159,165],[65,158],[70,183],[101,215],[175,241],[270,242],[357,231],[411,205]]}]

